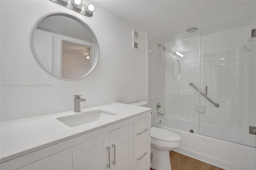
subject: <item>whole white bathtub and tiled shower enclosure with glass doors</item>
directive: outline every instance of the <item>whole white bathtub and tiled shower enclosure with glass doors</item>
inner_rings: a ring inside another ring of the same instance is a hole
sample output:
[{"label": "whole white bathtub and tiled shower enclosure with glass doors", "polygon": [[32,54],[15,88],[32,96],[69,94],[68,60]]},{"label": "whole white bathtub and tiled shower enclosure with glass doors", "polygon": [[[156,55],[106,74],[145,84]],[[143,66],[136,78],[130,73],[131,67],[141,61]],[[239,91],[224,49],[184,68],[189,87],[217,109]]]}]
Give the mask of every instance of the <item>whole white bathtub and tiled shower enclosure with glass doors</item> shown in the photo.
[{"label": "whole white bathtub and tiled shower enclosure with glass doors", "polygon": [[152,126],[176,151],[225,169],[256,168],[256,16],[150,41]]}]

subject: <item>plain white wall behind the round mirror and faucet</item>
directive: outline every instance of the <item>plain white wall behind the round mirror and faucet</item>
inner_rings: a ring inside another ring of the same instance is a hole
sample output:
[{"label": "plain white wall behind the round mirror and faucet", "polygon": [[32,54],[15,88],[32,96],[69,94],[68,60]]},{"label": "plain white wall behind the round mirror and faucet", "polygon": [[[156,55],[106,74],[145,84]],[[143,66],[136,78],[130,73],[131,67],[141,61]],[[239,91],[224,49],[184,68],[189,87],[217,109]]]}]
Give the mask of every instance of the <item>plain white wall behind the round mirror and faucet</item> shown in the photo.
[{"label": "plain white wall behind the round mirror and faucet", "polygon": [[[74,94],[86,98],[82,108],[146,100],[146,32],[94,5],[94,16],[89,18],[49,0],[1,0],[1,83],[51,83],[50,87],[1,86],[1,121],[72,110]],[[32,54],[30,34],[34,24],[56,11],[84,20],[98,39],[98,65],[80,81],[52,77]],[[139,50],[132,49],[133,29],[140,35]]]}]

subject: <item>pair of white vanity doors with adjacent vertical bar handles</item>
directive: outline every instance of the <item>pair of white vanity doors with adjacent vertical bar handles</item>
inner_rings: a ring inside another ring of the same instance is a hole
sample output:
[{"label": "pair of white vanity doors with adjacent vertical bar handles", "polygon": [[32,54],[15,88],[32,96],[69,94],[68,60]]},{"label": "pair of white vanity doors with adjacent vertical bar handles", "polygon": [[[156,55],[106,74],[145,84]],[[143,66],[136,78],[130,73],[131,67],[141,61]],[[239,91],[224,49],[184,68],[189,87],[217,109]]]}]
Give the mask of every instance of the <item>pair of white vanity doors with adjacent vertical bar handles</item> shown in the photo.
[{"label": "pair of white vanity doors with adjacent vertical bar handles", "polygon": [[72,147],[73,170],[132,169],[130,123]]}]

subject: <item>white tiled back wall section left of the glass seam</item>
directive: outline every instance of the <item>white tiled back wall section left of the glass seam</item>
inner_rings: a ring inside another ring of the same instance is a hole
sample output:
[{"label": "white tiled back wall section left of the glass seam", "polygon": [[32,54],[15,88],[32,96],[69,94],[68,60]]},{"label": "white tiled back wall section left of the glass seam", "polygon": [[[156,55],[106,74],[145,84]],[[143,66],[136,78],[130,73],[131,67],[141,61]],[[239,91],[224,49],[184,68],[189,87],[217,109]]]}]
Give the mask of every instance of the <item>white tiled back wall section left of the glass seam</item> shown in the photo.
[{"label": "white tiled back wall section left of the glass seam", "polygon": [[[189,82],[193,82],[199,87],[199,36],[167,42],[166,46],[168,52],[165,57],[164,112],[170,117],[198,121],[199,115],[195,111],[195,105],[199,105],[199,95],[196,90],[189,86]],[[174,51],[182,53],[184,57],[179,59],[174,57],[172,55]],[[181,67],[179,80],[177,80],[178,70],[175,72],[173,70],[173,67],[177,66],[178,68],[178,60]],[[173,62],[176,66],[173,65]]]}]

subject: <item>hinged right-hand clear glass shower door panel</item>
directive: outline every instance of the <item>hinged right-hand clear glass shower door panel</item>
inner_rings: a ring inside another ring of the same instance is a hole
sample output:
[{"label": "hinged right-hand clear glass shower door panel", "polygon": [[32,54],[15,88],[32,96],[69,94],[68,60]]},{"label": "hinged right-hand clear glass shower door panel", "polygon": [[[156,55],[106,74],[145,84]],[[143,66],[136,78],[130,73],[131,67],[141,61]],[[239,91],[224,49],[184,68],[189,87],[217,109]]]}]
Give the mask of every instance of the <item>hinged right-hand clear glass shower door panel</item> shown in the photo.
[{"label": "hinged right-hand clear glass shower door panel", "polygon": [[256,146],[256,16],[200,30],[199,134]]}]

